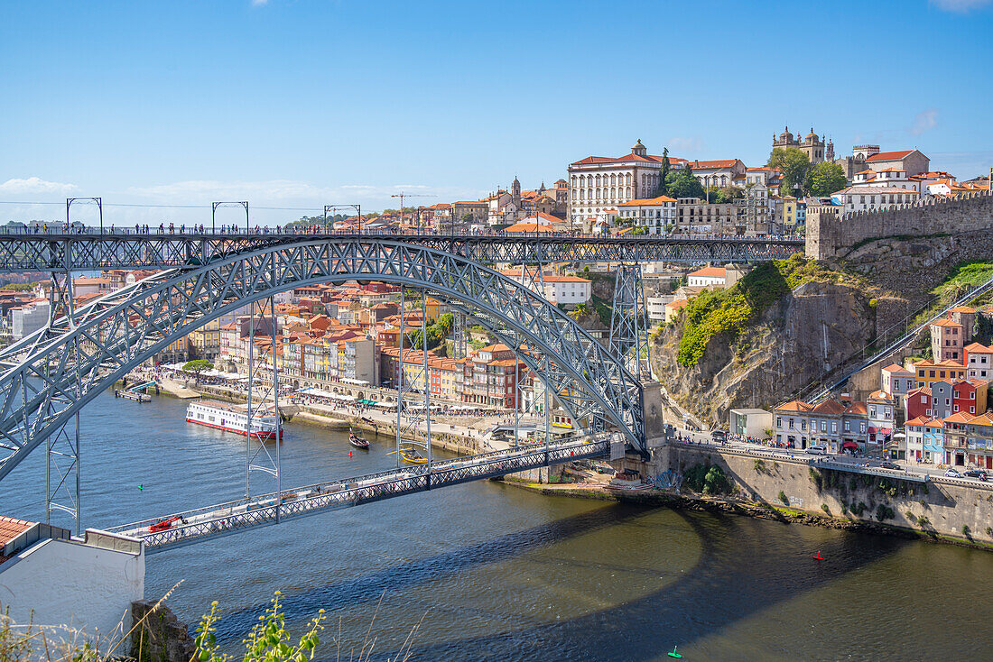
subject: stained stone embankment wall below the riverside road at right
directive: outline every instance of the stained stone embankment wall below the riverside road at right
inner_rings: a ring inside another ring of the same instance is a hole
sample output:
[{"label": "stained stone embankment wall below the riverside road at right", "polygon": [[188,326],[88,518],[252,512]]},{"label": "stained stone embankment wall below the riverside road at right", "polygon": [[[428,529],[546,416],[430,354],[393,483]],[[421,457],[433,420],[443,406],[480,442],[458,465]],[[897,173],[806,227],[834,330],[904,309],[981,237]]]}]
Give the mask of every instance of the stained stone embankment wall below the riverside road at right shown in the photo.
[{"label": "stained stone embankment wall below the riverside road at right", "polygon": [[[627,461],[629,467],[635,463]],[[838,529],[969,545],[993,550],[993,484],[932,477],[926,482],[810,465],[807,458],[768,458],[707,446],[664,445],[652,449],[649,475],[665,470],[686,475],[697,466],[718,466],[729,488],[722,495],[671,490],[569,494],[622,499],[674,508],[731,512]],[[543,486],[541,491],[569,493]]]}]

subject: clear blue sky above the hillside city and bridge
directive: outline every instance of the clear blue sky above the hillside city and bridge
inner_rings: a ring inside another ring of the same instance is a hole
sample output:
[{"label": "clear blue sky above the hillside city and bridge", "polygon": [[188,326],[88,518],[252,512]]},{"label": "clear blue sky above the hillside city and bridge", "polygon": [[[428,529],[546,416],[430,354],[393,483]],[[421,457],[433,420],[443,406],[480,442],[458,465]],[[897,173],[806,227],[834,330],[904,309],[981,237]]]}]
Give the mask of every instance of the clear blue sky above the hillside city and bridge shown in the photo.
[{"label": "clear blue sky above the hillside city and bridge", "polygon": [[[919,147],[961,179],[993,166],[990,0],[0,9],[6,201],[378,209],[401,190],[433,203],[514,175],[551,184],[638,138],[651,153],[761,165],[783,124],[812,125],[839,155],[879,142]],[[0,204],[0,221],[60,213]],[[209,222],[210,208],[105,217]]]}]

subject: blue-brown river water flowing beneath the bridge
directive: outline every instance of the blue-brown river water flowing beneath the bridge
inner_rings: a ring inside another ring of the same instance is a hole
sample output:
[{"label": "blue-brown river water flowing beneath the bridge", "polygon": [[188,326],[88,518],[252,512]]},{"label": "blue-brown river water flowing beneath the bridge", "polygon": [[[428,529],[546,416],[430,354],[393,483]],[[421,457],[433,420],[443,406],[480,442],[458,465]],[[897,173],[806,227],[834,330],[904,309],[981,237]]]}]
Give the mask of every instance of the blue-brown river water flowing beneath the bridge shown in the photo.
[{"label": "blue-brown river water flowing beneath the bridge", "polygon": [[[243,492],[243,440],[185,409],[109,393],[85,409],[86,526]],[[390,440],[371,441],[350,457],[346,435],[290,424],[284,488],[395,465]],[[0,512],[43,517],[44,475],[36,453],[4,479]],[[339,624],[344,659],[370,627],[385,659],[417,623],[419,660],[661,660],[673,645],[687,660],[993,658],[993,554],[493,481],[149,557],[147,597],[180,580],[168,603],[193,622],[218,600],[231,651],[279,590],[294,632],[327,610],[322,659]]]}]

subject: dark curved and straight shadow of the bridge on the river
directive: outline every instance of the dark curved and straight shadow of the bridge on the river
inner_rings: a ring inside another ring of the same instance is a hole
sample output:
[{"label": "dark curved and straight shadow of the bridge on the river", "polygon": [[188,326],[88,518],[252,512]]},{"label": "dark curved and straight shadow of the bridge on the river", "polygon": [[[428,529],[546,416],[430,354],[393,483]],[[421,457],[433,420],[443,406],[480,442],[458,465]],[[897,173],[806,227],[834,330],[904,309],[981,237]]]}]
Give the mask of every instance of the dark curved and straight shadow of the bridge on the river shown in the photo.
[{"label": "dark curved and straight shadow of the bridge on the river", "polygon": [[[287,620],[303,621],[320,608],[333,614],[374,601],[383,591],[388,601],[395,591],[508,560],[569,537],[633,522],[655,510],[615,504],[352,581],[285,596]],[[896,538],[830,532],[829,538],[816,543],[818,549],[811,549],[809,539],[801,535],[804,527],[733,515],[676,514],[696,537],[700,557],[693,568],[658,591],[569,619],[525,623],[508,631],[444,641],[417,639],[410,659],[654,660],[673,645],[685,647],[780,602],[826,587],[906,544]],[[812,561],[816,551],[826,561]],[[615,553],[623,554],[623,548]],[[611,559],[605,558],[604,563],[609,565]],[[658,563],[664,564],[664,559]],[[659,565],[658,570],[671,569]],[[258,605],[225,616],[218,634],[234,639],[256,622],[263,609],[264,605]],[[324,640],[329,642],[330,635]],[[372,659],[395,656],[395,650],[383,651]]]}]

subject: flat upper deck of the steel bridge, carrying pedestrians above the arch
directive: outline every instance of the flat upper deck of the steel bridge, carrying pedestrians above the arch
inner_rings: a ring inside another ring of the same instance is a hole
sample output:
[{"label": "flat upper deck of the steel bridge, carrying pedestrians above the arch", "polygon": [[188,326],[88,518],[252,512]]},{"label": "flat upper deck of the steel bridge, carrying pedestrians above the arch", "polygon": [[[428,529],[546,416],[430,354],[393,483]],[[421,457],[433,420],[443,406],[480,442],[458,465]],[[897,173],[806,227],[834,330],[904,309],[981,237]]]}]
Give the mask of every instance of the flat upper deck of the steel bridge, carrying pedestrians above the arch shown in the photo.
[{"label": "flat upper deck of the steel bridge, carrying pedestrians above the arch", "polygon": [[347,233],[197,231],[0,232],[0,273],[94,269],[185,268],[249,250],[301,240],[382,241],[433,248],[480,263],[754,262],[785,259],[803,250],[795,237],[679,237],[552,234]]}]

